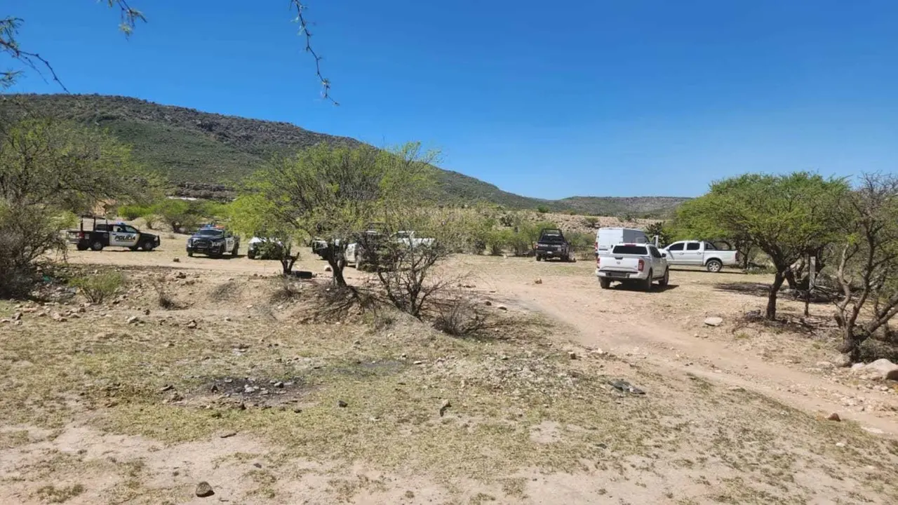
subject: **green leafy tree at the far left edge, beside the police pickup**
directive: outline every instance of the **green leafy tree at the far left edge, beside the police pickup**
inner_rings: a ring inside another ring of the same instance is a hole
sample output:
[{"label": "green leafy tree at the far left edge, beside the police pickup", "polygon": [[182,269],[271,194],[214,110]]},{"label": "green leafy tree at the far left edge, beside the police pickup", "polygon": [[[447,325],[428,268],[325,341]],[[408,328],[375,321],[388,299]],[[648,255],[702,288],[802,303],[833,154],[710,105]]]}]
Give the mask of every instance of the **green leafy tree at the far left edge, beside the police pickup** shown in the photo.
[{"label": "green leafy tree at the far left edge, beside the police pickup", "polygon": [[0,297],[23,297],[74,213],[134,199],[145,180],[128,148],[99,131],[50,120],[0,129]]}]

